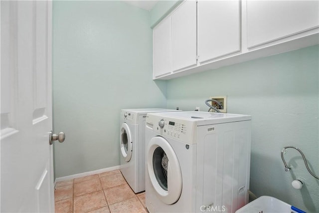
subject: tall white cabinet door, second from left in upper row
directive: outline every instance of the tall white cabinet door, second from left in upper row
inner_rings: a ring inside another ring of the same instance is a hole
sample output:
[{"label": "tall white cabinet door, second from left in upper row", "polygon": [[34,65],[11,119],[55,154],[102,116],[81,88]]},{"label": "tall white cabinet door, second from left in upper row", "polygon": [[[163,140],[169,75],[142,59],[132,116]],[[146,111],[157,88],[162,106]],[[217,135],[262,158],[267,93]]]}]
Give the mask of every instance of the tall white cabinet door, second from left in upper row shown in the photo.
[{"label": "tall white cabinet door, second from left in upper row", "polygon": [[196,1],[182,3],[171,14],[171,70],[197,64]]}]

